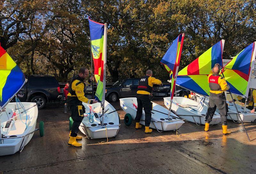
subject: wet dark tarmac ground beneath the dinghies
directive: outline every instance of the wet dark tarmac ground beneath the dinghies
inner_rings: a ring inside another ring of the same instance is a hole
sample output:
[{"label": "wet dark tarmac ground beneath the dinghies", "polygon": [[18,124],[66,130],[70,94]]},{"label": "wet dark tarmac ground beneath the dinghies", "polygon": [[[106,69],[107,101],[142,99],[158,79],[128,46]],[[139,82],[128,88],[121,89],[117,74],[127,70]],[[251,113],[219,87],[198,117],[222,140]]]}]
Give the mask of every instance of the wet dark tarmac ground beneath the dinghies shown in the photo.
[{"label": "wet dark tarmac ground beneath the dinghies", "polygon": [[[163,100],[156,101],[164,106]],[[119,103],[112,103],[120,109]],[[35,132],[21,153],[0,156],[0,174],[66,173],[169,173],[169,174],[254,174],[256,173],[256,124],[247,123],[251,142],[241,124],[228,122],[232,134],[222,135],[221,125],[210,127],[185,122],[176,131],[144,133],[135,123],[124,125],[124,111],[118,110],[121,128],[108,143],[83,138],[82,148],[68,143],[69,113],[57,104],[39,110],[37,127],[44,121],[45,136]],[[85,137],[83,134],[79,135]]]}]

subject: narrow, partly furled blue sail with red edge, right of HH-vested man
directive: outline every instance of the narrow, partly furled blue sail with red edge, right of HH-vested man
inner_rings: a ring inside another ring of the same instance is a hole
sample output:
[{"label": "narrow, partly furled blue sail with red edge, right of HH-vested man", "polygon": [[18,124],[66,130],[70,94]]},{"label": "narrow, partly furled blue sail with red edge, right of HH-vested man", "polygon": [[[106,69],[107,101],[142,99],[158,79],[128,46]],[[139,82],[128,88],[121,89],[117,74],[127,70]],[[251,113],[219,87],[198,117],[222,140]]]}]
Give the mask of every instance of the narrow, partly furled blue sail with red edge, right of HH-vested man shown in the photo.
[{"label": "narrow, partly furled blue sail with red edge, right of HH-vested man", "polygon": [[[180,57],[185,34],[180,34],[173,42],[170,48],[164,54],[160,63],[164,64],[165,69],[170,73],[171,84],[171,100],[175,91],[176,77],[180,66]],[[174,74],[174,75],[173,75]],[[172,103],[172,102],[171,102]]]}]

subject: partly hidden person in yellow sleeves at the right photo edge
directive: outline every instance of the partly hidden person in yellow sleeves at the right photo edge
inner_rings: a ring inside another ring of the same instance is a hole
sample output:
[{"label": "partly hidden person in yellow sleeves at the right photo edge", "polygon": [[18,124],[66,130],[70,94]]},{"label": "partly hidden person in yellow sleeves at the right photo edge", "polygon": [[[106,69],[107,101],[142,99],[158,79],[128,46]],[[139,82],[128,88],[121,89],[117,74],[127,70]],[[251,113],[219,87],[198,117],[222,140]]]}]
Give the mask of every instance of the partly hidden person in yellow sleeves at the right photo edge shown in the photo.
[{"label": "partly hidden person in yellow sleeves at the right photo edge", "polygon": [[[236,101],[245,103],[245,98],[238,95],[236,98],[234,98],[234,102],[236,102]],[[229,102],[233,103],[233,101],[229,101]],[[246,101],[246,105],[248,105],[246,108],[251,110],[251,113],[255,112],[255,109],[256,109],[256,89],[250,88],[248,99]]]}]

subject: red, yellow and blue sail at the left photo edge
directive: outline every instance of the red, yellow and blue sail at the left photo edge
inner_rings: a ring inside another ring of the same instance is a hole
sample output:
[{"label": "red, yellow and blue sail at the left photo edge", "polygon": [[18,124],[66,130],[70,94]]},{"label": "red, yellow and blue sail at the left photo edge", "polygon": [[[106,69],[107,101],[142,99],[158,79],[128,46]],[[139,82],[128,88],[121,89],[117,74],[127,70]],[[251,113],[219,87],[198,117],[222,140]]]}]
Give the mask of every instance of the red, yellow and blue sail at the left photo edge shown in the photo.
[{"label": "red, yellow and blue sail at the left photo edge", "polygon": [[0,45],[0,111],[25,83],[23,72]]}]

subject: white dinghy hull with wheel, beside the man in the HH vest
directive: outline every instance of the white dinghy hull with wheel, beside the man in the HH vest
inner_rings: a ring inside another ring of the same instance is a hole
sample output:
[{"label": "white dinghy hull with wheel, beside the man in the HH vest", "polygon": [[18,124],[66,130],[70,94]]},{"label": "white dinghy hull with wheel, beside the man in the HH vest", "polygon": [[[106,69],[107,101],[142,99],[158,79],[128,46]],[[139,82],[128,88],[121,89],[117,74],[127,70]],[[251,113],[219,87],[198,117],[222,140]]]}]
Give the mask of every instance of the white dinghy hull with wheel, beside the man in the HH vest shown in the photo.
[{"label": "white dinghy hull with wheel, beside the man in the HH vest", "polygon": [[[137,113],[137,98],[121,98],[120,106],[126,113],[124,117],[124,122],[126,125],[132,124],[132,119],[134,120]],[[181,118],[177,117],[174,113],[171,113],[171,119],[168,120],[168,110],[164,107],[153,103],[153,110],[151,111],[151,123],[150,128],[156,129],[158,132],[162,131],[172,131],[179,129],[180,126],[185,123]],[[145,125],[145,112],[142,111],[141,125]]]}]

